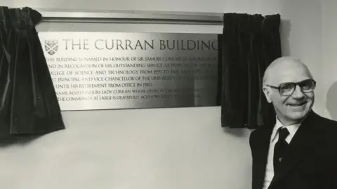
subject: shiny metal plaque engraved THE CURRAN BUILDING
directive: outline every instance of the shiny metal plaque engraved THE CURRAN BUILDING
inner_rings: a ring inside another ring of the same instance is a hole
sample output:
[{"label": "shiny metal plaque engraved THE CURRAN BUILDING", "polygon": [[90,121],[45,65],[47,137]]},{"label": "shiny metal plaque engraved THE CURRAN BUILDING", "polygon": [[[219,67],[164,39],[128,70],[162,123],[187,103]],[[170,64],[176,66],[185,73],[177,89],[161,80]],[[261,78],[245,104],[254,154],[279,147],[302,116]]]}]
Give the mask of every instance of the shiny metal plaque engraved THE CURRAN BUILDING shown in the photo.
[{"label": "shiny metal plaque engraved THE CURRAN BUILDING", "polygon": [[216,106],[218,34],[40,32],[62,111]]}]

